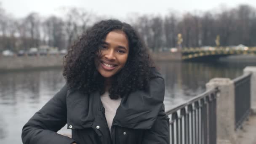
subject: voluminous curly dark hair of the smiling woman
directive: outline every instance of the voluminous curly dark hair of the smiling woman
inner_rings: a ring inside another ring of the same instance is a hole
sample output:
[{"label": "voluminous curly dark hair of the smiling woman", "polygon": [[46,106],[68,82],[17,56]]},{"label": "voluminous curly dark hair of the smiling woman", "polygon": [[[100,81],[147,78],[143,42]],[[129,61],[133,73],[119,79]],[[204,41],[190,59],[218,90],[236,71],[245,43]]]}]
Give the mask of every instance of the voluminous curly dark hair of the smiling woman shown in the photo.
[{"label": "voluminous curly dark hair of the smiling woman", "polygon": [[113,76],[109,88],[110,98],[117,99],[148,88],[152,76],[150,68],[154,66],[148,49],[131,25],[112,19],[94,24],[64,56],[63,76],[69,88],[86,94],[94,91],[104,93],[104,77],[97,71],[94,59],[99,56],[102,41],[113,30],[122,30],[126,34],[129,54],[125,66]]}]

